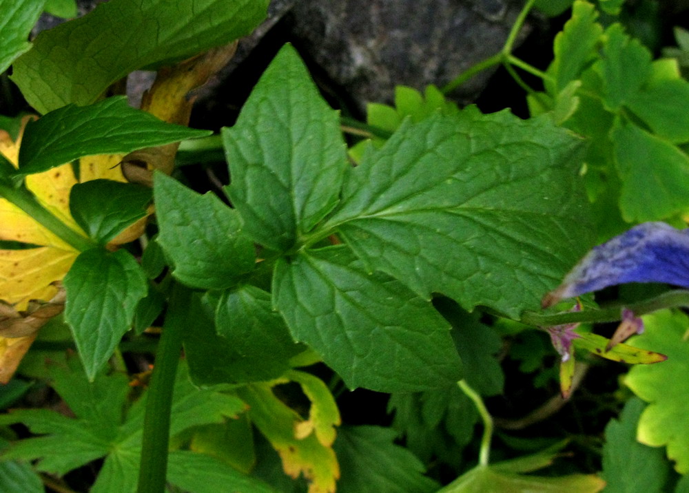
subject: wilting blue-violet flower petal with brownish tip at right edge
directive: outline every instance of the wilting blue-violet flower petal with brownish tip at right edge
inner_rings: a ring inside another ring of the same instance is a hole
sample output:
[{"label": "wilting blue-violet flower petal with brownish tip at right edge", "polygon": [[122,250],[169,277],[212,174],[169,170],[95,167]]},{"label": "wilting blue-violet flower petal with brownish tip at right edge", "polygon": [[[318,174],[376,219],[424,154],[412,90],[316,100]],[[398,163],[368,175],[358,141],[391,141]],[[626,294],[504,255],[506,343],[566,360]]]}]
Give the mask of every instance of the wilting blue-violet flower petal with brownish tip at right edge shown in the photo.
[{"label": "wilting blue-violet flower petal with brownish tip at right edge", "polygon": [[543,305],[626,282],[665,282],[689,289],[689,229],[645,222],[596,246],[543,298]]}]

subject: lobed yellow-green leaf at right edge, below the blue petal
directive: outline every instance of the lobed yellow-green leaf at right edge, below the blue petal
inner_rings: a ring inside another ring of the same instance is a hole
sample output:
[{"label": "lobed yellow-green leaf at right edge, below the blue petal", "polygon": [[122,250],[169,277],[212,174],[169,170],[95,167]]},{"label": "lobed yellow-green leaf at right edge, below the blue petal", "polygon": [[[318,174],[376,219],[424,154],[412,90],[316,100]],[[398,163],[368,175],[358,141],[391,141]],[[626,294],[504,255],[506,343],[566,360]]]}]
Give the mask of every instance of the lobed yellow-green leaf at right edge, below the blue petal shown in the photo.
[{"label": "lobed yellow-green leaf at right edge, below the blue petal", "polygon": [[637,440],[651,447],[667,446],[668,457],[675,461],[675,470],[689,473],[689,342],[686,332],[689,319],[679,312],[658,311],[644,315],[644,334],[635,336],[630,344],[668,355],[660,364],[635,366],[625,383],[648,402],[641,413]]}]

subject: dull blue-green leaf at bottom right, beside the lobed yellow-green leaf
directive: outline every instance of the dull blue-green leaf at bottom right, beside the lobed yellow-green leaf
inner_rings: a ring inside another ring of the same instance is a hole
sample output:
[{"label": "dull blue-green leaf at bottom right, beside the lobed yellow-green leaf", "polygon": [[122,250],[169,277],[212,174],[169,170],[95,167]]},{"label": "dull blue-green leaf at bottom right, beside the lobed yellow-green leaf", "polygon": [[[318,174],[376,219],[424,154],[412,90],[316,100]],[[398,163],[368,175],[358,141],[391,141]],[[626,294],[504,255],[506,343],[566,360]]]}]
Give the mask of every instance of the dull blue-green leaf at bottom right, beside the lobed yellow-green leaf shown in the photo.
[{"label": "dull blue-green leaf at bottom right, beside the lobed yellow-green leaf", "polygon": [[603,479],[606,493],[660,493],[668,479],[668,461],[663,450],[637,441],[637,422],[645,404],[630,399],[619,421],[605,428]]}]

